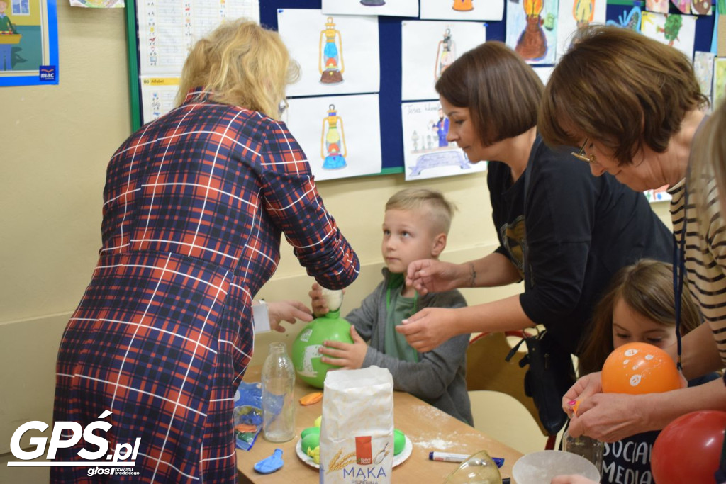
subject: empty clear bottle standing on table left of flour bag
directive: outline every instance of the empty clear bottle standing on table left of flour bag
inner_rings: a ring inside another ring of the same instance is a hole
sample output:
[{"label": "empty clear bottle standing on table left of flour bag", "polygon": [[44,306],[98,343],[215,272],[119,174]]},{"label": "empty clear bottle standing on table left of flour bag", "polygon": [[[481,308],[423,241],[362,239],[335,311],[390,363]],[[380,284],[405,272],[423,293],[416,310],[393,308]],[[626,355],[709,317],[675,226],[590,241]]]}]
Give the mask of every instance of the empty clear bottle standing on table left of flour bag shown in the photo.
[{"label": "empty clear bottle standing on table left of flour bag", "polygon": [[271,442],[295,437],[295,368],[285,343],[270,343],[262,366],[262,431]]}]

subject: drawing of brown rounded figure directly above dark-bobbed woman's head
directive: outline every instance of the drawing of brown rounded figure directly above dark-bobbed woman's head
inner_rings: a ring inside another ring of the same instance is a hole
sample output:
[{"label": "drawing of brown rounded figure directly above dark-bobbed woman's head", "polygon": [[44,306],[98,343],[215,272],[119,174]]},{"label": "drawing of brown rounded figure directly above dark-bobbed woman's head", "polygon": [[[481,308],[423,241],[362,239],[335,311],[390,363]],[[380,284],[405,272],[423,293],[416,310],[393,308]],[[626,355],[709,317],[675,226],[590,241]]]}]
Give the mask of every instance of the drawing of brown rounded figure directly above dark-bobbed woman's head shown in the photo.
[{"label": "drawing of brown rounded figure directly above dark-bobbed woman's head", "polygon": [[507,0],[507,45],[529,64],[554,64],[558,0]]}]

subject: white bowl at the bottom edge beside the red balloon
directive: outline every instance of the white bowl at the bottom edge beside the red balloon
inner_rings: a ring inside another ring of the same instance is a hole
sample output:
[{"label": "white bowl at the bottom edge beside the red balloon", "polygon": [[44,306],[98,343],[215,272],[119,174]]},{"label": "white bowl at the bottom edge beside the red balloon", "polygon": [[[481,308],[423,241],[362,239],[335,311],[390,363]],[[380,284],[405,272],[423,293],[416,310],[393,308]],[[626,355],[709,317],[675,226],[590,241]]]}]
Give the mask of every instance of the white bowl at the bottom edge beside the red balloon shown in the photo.
[{"label": "white bowl at the bottom edge beside the red balloon", "polygon": [[579,474],[600,482],[595,464],[570,452],[532,452],[521,456],[512,467],[512,477],[517,484],[550,484],[552,477],[566,474]]}]

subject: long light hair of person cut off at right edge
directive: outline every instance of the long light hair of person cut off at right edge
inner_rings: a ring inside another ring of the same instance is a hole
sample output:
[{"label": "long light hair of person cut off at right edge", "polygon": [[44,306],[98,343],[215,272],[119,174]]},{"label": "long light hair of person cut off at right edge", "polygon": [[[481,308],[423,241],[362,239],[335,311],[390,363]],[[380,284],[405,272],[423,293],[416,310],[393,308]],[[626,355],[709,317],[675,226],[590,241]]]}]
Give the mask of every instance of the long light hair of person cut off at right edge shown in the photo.
[{"label": "long light hair of person cut off at right edge", "polygon": [[[709,205],[726,200],[726,102],[703,123],[693,138],[690,152],[688,191],[696,205],[699,223],[711,225],[710,218],[719,214],[721,207]],[[716,193],[713,193],[716,191]]]}]

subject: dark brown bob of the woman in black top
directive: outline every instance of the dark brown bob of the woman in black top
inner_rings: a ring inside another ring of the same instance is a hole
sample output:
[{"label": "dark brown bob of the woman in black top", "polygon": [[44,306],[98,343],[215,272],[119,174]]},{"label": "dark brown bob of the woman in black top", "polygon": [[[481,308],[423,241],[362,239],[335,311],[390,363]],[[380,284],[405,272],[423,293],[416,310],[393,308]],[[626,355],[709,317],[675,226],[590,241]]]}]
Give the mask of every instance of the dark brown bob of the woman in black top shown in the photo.
[{"label": "dark brown bob of the woman in black top", "polygon": [[512,49],[489,41],[462,54],[436,81],[436,91],[466,107],[484,146],[537,125],[542,81]]}]

